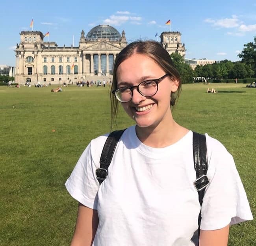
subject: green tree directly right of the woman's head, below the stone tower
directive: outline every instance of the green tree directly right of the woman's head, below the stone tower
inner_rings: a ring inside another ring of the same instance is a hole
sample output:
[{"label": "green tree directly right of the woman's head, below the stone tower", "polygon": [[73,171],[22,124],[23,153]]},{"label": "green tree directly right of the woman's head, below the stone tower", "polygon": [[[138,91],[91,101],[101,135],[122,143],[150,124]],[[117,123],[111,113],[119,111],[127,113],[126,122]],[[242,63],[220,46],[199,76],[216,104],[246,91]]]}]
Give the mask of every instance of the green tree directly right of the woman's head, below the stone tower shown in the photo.
[{"label": "green tree directly right of the woman's head, below the stone tower", "polygon": [[173,60],[174,66],[180,73],[182,83],[192,83],[193,82],[193,69],[185,63],[184,58],[178,54],[171,54],[171,59]]}]

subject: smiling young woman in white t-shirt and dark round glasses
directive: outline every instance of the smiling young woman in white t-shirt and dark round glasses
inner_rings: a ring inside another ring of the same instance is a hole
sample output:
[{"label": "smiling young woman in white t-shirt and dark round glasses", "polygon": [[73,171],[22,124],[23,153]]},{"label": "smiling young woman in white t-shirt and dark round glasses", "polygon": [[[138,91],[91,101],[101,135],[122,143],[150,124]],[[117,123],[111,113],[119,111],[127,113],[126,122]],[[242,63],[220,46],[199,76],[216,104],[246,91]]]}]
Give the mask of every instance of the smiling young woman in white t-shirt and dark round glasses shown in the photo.
[{"label": "smiling young woman in white t-shirt and dark round glasses", "polygon": [[[117,55],[112,120],[121,103],[135,125],[122,134],[101,185],[95,170],[108,135],[91,141],[67,180],[79,202],[72,246],[195,245],[200,204],[193,133],[171,113],[180,90],[180,76],[159,43],[134,42]],[[252,213],[232,156],[207,134],[206,141],[210,185],[200,246],[226,246],[230,224],[252,220]]]}]

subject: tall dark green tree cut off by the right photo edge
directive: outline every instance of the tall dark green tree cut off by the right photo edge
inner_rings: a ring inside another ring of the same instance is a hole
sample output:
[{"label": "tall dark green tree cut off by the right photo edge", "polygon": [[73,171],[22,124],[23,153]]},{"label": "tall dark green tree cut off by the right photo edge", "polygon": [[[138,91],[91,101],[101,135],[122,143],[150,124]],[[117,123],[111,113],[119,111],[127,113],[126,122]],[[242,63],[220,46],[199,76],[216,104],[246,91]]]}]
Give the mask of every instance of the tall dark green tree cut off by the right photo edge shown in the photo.
[{"label": "tall dark green tree cut off by the right photo edge", "polygon": [[251,65],[252,70],[254,70],[254,75],[256,75],[256,36],[254,36],[254,42],[249,42],[243,45],[244,48],[240,54],[239,58],[242,58],[242,63]]}]

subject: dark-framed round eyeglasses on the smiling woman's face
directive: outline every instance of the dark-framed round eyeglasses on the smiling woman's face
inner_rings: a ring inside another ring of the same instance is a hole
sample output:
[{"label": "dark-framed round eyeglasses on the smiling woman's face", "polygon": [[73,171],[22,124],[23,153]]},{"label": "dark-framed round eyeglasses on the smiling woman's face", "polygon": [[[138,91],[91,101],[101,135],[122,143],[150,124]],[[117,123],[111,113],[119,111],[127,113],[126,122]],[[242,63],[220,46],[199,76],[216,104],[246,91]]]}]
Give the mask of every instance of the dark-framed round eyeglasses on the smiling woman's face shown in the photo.
[{"label": "dark-framed round eyeglasses on the smiling woman's face", "polygon": [[158,91],[158,83],[169,74],[165,74],[156,80],[145,80],[131,87],[120,87],[112,91],[119,102],[129,102],[132,100],[133,91],[136,88],[142,96],[154,96]]}]

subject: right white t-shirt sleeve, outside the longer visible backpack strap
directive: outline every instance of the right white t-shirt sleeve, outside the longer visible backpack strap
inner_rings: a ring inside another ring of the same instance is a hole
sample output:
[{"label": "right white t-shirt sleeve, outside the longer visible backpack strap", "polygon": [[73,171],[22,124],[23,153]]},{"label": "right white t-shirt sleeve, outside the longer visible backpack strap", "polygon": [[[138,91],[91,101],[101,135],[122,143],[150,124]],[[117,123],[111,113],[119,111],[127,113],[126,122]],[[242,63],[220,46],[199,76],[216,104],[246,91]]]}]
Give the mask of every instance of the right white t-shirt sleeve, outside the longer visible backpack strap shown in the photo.
[{"label": "right white t-shirt sleeve, outside the longer visible backpack strap", "polygon": [[[209,137],[208,137],[209,139]],[[208,143],[207,143],[208,145]],[[202,230],[215,230],[252,220],[249,202],[232,155],[221,143],[208,155],[208,178],[201,209]]]}]

